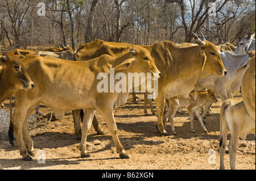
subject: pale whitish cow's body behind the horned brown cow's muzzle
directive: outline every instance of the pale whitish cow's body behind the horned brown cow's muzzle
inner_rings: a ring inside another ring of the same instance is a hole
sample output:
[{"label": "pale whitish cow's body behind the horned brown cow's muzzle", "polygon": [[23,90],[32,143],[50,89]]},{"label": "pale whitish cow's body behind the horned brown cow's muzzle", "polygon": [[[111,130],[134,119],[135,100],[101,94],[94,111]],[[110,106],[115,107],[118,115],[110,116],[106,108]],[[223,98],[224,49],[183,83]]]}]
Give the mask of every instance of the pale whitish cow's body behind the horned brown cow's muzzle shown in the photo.
[{"label": "pale whitish cow's body behind the horned brown cow's muzzle", "polygon": [[[222,102],[226,99],[233,98],[232,92],[240,88],[242,84],[242,78],[247,68],[240,69],[246,65],[251,59],[249,54],[234,54],[230,51],[220,53],[221,60],[228,71],[225,77],[217,77],[212,75],[207,78],[199,79],[196,82],[195,90],[197,89],[212,89],[214,94],[220,96]],[[202,117],[205,118],[208,108],[212,103],[208,103],[205,106],[205,110]]]}]

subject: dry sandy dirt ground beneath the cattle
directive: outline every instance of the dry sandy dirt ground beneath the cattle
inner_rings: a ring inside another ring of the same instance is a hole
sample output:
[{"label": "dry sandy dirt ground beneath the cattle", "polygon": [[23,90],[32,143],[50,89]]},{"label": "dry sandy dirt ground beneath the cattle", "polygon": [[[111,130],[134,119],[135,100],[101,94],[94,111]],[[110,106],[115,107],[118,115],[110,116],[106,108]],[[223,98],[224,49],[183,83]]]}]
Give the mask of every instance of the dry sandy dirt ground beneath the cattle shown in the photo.
[{"label": "dry sandy dirt ground beneath the cattle", "polygon": [[[150,116],[144,116],[144,98],[142,94],[138,96],[138,104],[134,104],[129,95],[128,102],[114,113],[119,140],[130,159],[119,158],[110,134],[97,135],[93,127],[87,137],[91,157],[81,158],[80,141],[76,140],[72,112],[57,121],[36,120],[38,115],[34,113],[28,121],[34,140],[34,160],[22,161],[16,141],[14,148],[7,141],[6,128],[2,129],[0,136],[0,165],[3,169],[219,169],[220,155],[217,150],[221,100],[213,104],[210,116],[206,119],[208,133],[204,133],[199,121],[195,121],[196,133],[192,133],[188,111],[184,109],[184,114],[175,115],[177,135],[172,133],[170,123],[167,123],[167,131],[171,136],[160,136],[155,128],[156,116],[151,114],[150,109]],[[240,95],[236,93],[236,96]],[[9,110],[9,100],[6,100],[5,106],[3,109]],[[39,112],[44,115],[51,110],[40,106]],[[97,112],[96,116],[102,129],[108,132],[100,113]],[[45,163],[40,159],[43,155]],[[226,169],[230,169],[228,153],[224,161]],[[245,141],[239,141],[236,168],[255,170],[254,134],[249,134]]]}]

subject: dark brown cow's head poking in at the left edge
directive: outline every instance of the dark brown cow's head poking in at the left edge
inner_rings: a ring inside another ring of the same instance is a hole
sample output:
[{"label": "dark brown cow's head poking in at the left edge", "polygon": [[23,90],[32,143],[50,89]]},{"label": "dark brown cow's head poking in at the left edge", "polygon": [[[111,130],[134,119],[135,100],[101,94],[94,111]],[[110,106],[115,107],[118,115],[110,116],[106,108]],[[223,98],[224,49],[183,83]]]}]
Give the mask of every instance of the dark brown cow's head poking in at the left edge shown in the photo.
[{"label": "dark brown cow's head poking in at the left edge", "polygon": [[[22,61],[13,53],[5,52],[0,58],[0,66],[2,66],[1,78],[2,83],[6,82],[6,89],[18,91],[20,89],[32,89],[34,83],[31,81]],[[14,93],[14,92],[13,92]]]}]

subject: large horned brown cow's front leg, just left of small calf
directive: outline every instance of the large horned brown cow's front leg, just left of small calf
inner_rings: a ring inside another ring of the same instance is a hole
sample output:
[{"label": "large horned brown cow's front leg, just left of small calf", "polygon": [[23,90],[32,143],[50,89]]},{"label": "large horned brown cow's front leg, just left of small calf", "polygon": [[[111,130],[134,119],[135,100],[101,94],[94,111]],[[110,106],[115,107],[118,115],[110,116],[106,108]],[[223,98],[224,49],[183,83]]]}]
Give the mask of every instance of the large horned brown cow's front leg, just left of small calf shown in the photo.
[{"label": "large horned brown cow's front leg, just left of small calf", "polygon": [[159,92],[158,97],[155,99],[156,104],[156,116],[158,117],[158,125],[157,129],[161,133],[161,135],[169,136],[167,131],[164,129],[163,125],[163,113],[164,113],[164,106],[165,106],[165,97],[166,94],[163,92]]}]

